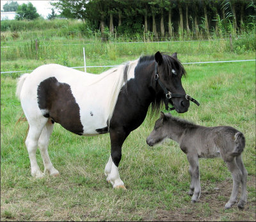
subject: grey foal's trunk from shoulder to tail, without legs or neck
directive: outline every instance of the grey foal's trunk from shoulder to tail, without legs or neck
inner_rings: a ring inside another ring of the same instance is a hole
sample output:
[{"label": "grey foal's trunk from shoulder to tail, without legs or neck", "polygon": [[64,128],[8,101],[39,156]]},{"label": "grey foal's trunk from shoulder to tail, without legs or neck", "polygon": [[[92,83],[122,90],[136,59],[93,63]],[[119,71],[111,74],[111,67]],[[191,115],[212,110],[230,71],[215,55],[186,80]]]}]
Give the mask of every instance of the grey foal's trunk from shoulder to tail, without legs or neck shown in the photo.
[{"label": "grey foal's trunk from shoulder to tail, without legs or neck", "polygon": [[[186,152],[197,152],[198,157],[221,157],[230,159],[240,155],[245,146],[243,133],[230,126],[203,127],[193,125],[184,129],[180,148]],[[186,148],[186,150],[184,150]],[[190,150],[188,150],[190,149]]]}]

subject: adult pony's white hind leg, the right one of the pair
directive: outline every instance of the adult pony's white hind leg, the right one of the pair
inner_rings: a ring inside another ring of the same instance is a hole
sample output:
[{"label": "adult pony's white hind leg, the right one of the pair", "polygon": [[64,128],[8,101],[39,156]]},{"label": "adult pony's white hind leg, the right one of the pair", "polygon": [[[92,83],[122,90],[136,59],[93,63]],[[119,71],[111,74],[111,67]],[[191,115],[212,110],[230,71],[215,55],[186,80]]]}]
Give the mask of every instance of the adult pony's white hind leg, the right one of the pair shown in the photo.
[{"label": "adult pony's white hind leg, the right one of the pair", "polygon": [[49,173],[52,176],[58,176],[60,175],[60,173],[52,165],[51,159],[49,157],[48,150],[47,150],[53,127],[54,127],[54,123],[52,123],[51,119],[49,119],[48,122],[45,124],[45,127],[38,140],[38,147],[40,149],[42,159],[44,162],[44,173]]}]

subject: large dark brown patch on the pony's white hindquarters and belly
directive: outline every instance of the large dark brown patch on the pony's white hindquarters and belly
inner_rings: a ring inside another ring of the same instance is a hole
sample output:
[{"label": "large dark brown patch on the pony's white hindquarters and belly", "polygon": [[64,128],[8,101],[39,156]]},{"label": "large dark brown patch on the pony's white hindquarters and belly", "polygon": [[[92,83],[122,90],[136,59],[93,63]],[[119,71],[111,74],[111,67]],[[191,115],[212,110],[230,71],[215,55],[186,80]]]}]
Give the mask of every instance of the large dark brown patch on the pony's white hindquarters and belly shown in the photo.
[{"label": "large dark brown patch on the pony's white hindquarters and belly", "polygon": [[83,135],[80,108],[70,85],[59,83],[55,77],[49,77],[39,84],[37,100],[39,108],[47,110],[44,114],[46,118],[52,118],[70,132]]}]

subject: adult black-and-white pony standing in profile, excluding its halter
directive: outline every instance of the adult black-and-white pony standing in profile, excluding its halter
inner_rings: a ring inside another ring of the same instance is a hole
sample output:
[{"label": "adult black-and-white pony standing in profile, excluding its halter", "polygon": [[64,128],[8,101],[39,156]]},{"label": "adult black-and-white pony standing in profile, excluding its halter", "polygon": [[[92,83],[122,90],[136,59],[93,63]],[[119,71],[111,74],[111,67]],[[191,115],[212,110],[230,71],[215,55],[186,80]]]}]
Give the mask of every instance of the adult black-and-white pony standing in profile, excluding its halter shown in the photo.
[{"label": "adult black-and-white pony standing in profile, excluding its halter", "polygon": [[[164,100],[163,89],[154,80],[155,64],[159,79],[172,93],[186,95],[181,84],[185,70],[177,54],[154,56],[111,68],[100,75],[88,74],[61,65],[50,64],[24,74],[17,84],[16,95],[29,123],[26,138],[31,174],[42,177],[36,163],[40,148],[44,172],[58,175],[49,159],[47,147],[54,122],[79,135],[93,136],[109,132],[111,155],[105,168],[113,187],[124,187],[118,164],[122,144],[131,131],[141,125],[148,107],[159,108]],[[189,100],[172,98],[176,111],[188,111]]]}]

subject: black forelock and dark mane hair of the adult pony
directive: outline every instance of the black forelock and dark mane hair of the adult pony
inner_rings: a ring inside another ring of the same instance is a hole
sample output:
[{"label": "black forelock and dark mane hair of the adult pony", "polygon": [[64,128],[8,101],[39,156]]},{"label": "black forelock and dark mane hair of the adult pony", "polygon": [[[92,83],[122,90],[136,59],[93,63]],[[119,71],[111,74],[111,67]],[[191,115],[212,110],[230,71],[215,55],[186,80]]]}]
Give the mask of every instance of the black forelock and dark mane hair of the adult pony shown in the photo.
[{"label": "black forelock and dark mane hair of the adult pony", "polygon": [[[162,53],[161,53],[162,54]],[[179,70],[178,75],[182,77],[182,75],[186,76],[186,70],[184,69],[183,65],[180,63],[179,59],[175,59],[168,54],[162,54],[163,56],[163,63],[161,64],[161,68],[159,68],[159,74],[163,75],[164,79],[168,81],[172,81],[172,69]],[[152,61],[155,60],[155,56],[141,56],[138,65],[149,65]],[[151,115],[155,113],[159,113],[159,110],[163,106],[164,98],[161,95],[157,95],[154,102],[151,104]]]}]

